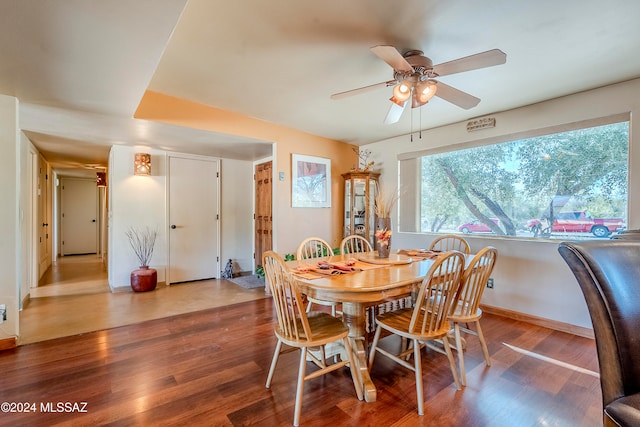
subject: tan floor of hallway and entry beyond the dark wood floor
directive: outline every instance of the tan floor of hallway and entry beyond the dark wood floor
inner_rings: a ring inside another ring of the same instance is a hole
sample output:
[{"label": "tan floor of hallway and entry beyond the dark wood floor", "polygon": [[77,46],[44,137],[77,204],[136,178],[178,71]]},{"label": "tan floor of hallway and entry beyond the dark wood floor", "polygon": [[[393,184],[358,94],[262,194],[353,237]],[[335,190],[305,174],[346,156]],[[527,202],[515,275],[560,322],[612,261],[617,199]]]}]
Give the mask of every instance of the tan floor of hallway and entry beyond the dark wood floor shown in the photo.
[{"label": "tan floor of hallway and entry beyond the dark wood floor", "polygon": [[227,280],[204,280],[155,291],[111,292],[96,255],[67,256],[43,275],[20,312],[18,345],[170,317],[264,297]]}]

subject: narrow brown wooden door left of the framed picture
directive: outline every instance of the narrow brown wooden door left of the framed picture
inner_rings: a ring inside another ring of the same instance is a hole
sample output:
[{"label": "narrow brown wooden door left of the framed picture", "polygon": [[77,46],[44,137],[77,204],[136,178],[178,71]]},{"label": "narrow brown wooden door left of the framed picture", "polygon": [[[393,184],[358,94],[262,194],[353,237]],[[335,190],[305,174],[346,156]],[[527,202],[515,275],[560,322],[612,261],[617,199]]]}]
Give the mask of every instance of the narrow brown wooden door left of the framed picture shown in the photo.
[{"label": "narrow brown wooden door left of the framed picture", "polygon": [[260,163],[255,169],[255,264],[262,265],[262,254],[273,247],[271,214],[272,162]]}]

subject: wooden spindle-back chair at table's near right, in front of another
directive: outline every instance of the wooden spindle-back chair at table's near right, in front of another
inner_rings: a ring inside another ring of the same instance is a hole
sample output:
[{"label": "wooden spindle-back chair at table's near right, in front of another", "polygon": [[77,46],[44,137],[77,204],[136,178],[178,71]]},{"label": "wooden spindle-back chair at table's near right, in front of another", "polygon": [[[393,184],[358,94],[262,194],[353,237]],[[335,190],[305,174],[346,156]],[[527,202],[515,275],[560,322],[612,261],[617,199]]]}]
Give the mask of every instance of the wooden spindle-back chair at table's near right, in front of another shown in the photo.
[{"label": "wooden spindle-back chair at table's near right, in front of another", "polygon": [[[373,365],[376,352],[415,372],[418,414],[424,415],[424,391],[422,387],[422,360],[420,352],[424,344],[432,340],[441,340],[444,353],[449,359],[453,380],[458,389],[455,360],[447,334],[450,330],[447,321],[451,304],[454,301],[460,279],[464,271],[464,255],[453,251],[439,255],[425,275],[413,308],[405,308],[376,317],[376,334],[369,353],[369,369]],[[398,335],[409,341],[408,348],[400,346],[400,352],[393,354],[378,344],[382,330]],[[444,339],[443,339],[444,338]],[[413,353],[413,365],[409,358]]]}]

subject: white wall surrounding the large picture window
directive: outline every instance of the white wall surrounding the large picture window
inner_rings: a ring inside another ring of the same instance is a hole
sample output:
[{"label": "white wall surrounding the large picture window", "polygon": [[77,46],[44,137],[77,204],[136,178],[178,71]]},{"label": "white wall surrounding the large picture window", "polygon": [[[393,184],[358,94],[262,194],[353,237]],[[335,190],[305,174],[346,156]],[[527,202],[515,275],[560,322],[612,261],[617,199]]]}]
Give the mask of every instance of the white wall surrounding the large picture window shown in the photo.
[{"label": "white wall surrounding the large picture window", "polygon": [[[429,108],[423,107],[428,115]],[[582,92],[527,107],[491,114],[496,127],[467,132],[466,122],[422,132],[422,139],[408,135],[361,147],[372,152],[376,166],[381,165],[382,185],[398,185],[398,155],[442,146],[473,143],[478,140],[501,141],[510,135],[534,129],[631,113],[629,150],[629,228],[640,227],[640,133],[633,132],[640,123],[640,79]],[[606,167],[606,165],[603,165]],[[395,224],[394,224],[395,227]],[[414,248],[428,246],[435,236],[396,232],[393,246]],[[466,238],[466,236],[465,236]],[[492,245],[498,249],[493,273],[495,288],[487,289],[483,303],[532,316],[591,328],[582,293],[573,274],[557,251],[558,242],[509,240],[491,236],[469,236],[472,250]]]}]

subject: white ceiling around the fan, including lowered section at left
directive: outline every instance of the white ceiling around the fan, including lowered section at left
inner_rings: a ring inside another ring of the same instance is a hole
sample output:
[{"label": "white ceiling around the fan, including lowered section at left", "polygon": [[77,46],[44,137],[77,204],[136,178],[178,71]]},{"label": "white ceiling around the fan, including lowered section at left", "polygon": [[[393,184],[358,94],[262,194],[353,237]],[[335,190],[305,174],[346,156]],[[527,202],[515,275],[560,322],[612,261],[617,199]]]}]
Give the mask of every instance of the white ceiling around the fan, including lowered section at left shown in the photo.
[{"label": "white ceiling around the fan, including lowered section at left", "polygon": [[[133,119],[145,90],[366,144],[640,77],[637,0],[7,0],[0,93],[60,171],[105,166],[113,144],[255,160],[268,142]],[[499,48],[507,63],[442,77],[479,97],[434,98],[384,125],[390,80],[369,48],[434,64]]]}]

